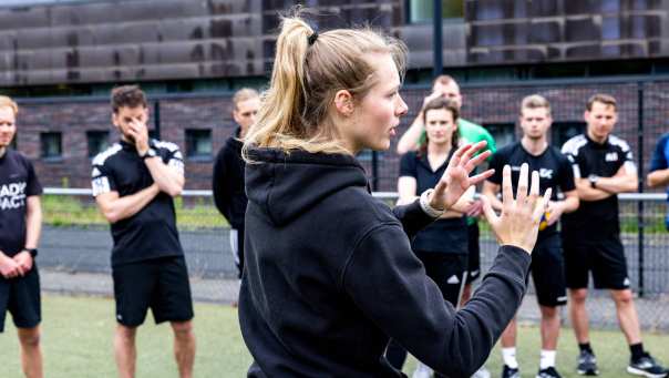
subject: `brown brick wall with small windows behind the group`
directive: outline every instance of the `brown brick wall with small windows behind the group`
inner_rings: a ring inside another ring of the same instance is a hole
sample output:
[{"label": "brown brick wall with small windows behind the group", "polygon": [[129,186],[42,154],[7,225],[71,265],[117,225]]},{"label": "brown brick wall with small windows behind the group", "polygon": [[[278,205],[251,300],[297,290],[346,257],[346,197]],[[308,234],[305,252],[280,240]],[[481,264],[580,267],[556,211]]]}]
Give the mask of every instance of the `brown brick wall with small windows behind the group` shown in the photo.
[{"label": "brown brick wall with small windows behind the group", "polygon": [[[663,132],[669,131],[666,118],[669,112],[669,82],[656,82],[645,85],[644,94],[644,159],[645,168],[655,142]],[[638,161],[638,91],[636,83],[578,84],[569,85],[523,85],[494,88],[463,88],[463,118],[486,124],[514,124],[523,96],[539,93],[546,96],[553,106],[556,124],[581,122],[587,99],[596,92],[616,96],[619,103],[619,122],[614,131],[627,140]],[[403,132],[422,102],[425,90],[412,89],[402,92],[409,104],[410,113],[403,118],[399,134]],[[153,105],[153,104],[152,104]],[[198,99],[159,100],[162,139],[177,143],[185,153],[186,129],[212,130],[214,154],[233,133],[229,96]],[[152,106],[153,110],[153,106]],[[71,103],[28,103],[21,104],[18,126],[18,147],[35,164],[40,178],[45,186],[89,187],[90,165],[88,157],[88,130],[110,130],[111,141],[117,134],[111,125],[110,108],[106,101]],[[63,141],[61,160],[49,161],[40,156],[40,132],[60,131]],[[380,153],[379,185],[382,191],[394,191],[399,156],[394,153],[397,139],[390,151]],[[213,159],[213,156],[212,156]],[[186,157],[186,187],[209,188],[212,161],[189,160]],[[371,175],[371,161],[363,160]]]}]

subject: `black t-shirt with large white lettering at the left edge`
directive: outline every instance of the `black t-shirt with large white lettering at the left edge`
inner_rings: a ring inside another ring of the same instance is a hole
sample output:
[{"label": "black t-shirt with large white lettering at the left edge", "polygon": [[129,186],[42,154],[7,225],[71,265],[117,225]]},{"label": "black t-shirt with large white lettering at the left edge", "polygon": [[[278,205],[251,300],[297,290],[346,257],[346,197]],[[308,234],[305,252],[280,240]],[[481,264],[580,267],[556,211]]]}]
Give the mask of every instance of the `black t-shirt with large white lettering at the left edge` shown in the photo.
[{"label": "black t-shirt with large white lettering at the left edge", "polygon": [[7,149],[0,157],[0,251],[14,256],[25,247],[28,197],[42,194],[32,163]]}]

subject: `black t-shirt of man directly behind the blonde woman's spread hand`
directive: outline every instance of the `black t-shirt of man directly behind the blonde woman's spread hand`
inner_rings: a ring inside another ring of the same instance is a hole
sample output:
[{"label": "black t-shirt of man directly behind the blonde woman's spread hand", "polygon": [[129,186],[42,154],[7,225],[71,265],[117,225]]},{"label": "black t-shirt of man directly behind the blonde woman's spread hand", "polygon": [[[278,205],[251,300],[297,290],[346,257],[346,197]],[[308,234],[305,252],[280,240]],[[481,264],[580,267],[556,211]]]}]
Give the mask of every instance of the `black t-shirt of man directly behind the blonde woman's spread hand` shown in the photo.
[{"label": "black t-shirt of man directly behind the blonde woman's spread hand", "polygon": [[[502,185],[502,171],[504,165],[511,165],[511,182],[514,193],[518,186],[521,177],[521,165],[527,163],[529,172],[537,171],[539,173],[539,193],[545,193],[552,188],[553,194],[550,200],[557,201],[558,192],[570,192],[576,188],[574,184],[574,172],[569,160],[559,152],[557,147],[549,145],[539,155],[533,155],[522,142],[508,144],[495,152],[491,159],[490,167],[495,170],[495,173],[487,178],[490,182]],[[539,232],[538,238],[546,237],[557,232],[557,223]]]}]

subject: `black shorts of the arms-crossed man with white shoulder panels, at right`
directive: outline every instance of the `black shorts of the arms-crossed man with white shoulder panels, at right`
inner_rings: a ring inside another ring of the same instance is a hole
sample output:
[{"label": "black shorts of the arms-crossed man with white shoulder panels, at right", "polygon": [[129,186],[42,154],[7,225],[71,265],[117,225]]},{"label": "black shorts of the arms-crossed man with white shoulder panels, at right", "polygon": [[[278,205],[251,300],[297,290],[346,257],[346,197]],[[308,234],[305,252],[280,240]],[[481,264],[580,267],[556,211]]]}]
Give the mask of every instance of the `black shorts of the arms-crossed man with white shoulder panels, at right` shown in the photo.
[{"label": "black shorts of the arms-crossed man with white shoulder panels, at right", "polygon": [[590,270],[595,288],[615,290],[629,288],[627,260],[619,235],[598,237],[598,241],[588,239],[587,242],[564,237],[563,242],[568,288],[587,288]]}]

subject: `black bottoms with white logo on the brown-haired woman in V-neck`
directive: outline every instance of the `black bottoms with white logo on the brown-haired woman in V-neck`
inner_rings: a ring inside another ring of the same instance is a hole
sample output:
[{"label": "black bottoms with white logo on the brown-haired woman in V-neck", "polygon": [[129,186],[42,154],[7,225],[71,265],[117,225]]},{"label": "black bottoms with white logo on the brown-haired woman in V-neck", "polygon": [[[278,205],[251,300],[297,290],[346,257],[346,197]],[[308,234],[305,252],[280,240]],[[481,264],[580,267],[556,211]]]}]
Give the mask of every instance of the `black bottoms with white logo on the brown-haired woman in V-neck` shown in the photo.
[{"label": "black bottoms with white logo on the brown-haired woman in V-neck", "polygon": [[[444,299],[457,306],[463,276],[467,272],[467,255],[416,251],[428,277],[436,283]],[[465,278],[466,279],[466,278]]]}]

